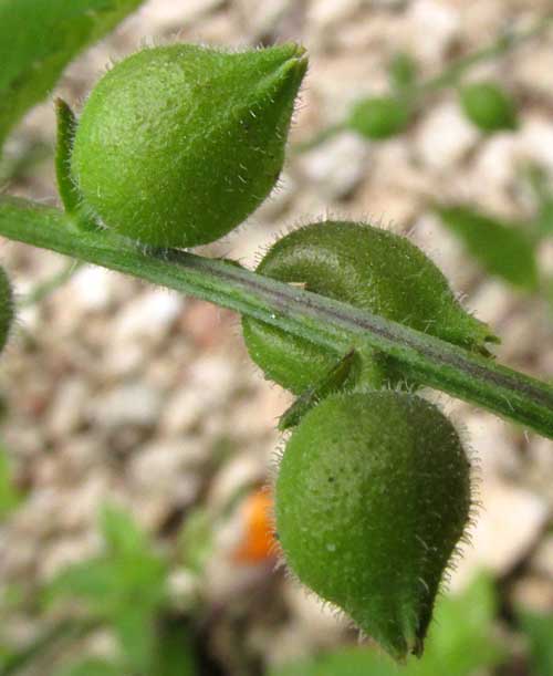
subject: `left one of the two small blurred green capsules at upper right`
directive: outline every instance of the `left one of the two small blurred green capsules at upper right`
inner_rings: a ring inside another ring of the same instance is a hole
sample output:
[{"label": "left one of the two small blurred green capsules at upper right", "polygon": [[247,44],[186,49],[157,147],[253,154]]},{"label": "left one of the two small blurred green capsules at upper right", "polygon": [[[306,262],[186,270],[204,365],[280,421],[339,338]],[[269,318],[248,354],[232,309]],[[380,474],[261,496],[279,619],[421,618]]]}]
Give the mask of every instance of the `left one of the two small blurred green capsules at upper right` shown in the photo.
[{"label": "left one of the two small blurred green capsules at upper right", "polygon": [[367,138],[380,141],[400,134],[410,118],[410,107],[400,98],[375,96],[354,105],[347,126]]}]

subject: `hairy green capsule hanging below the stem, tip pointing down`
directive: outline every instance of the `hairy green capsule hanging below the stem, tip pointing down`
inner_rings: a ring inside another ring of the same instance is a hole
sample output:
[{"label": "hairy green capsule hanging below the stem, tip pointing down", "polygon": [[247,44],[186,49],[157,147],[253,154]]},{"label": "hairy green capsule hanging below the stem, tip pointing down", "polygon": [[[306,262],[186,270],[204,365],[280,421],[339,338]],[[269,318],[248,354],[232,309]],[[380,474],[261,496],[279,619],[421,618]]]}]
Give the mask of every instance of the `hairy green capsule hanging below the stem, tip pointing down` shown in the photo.
[{"label": "hairy green capsule hanging below the stem, tip pointing down", "polygon": [[470,465],[436,406],[410,394],[335,394],[291,436],[275,524],[298,579],[396,659],[420,655],[471,506]]}]

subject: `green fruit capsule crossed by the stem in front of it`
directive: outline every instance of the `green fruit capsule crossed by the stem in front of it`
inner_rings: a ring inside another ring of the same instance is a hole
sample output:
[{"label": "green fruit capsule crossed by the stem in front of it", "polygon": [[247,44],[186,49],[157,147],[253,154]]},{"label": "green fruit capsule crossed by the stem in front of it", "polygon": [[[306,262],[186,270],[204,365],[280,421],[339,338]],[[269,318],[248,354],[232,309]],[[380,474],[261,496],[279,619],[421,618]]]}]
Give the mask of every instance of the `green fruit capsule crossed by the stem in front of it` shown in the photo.
[{"label": "green fruit capsule crossed by the stem in front of it", "polygon": [[[440,270],[408,239],[366,223],[325,221],[279,240],[258,272],[401,322],[469,350],[497,340],[468,314]],[[343,356],[258,320],[242,319],[246,345],[265,376],[295,394],[321,381]],[[358,374],[357,374],[358,375]],[[382,355],[366,355],[366,383],[397,382]]]}]

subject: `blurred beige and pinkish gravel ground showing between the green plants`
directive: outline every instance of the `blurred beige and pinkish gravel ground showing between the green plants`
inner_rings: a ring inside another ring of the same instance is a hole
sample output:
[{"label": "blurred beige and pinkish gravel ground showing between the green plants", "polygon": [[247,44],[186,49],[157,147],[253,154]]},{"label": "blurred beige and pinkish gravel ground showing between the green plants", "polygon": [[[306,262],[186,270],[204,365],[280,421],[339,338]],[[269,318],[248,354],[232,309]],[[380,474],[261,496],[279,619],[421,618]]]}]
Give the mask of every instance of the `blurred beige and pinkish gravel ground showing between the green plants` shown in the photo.
[{"label": "blurred beige and pinkish gravel ground showing between the green plants", "polygon": [[[545,0],[150,0],[73,63],[55,93],[79,105],[106,63],[145,42],[294,39],[311,54],[295,143],[342,119],[359,95],[384,91],[386,63],[398,49],[416,55],[430,76],[446,59],[493,40],[508,24],[528,25],[547,7]],[[438,262],[467,306],[502,336],[503,363],[553,377],[550,309],[486,277],[429,209],[446,197],[508,217],[528,215],[517,167],[534,160],[553,174],[552,40],[531,41],[471,72],[497,76],[523,102],[517,132],[482,136],[453,93],[440,92],[395,139],[376,144],[344,132],[291,157],[272,198],[202,252],[252,264],[278,233],[327,214],[382,222],[409,232]],[[17,154],[29,137],[52,144],[50,103],[28,116],[9,152]],[[9,190],[55,202],[51,162]],[[65,264],[3,241],[0,252],[19,294]],[[553,271],[551,245],[541,262]],[[27,493],[0,526],[4,584],[42,583],[97,551],[96,513],[106,499],[127,506],[169,547],[195,506],[221,513],[237,491],[267,480],[279,444],[275,420],[290,398],[251,365],[239,329],[229,312],[88,267],[21,312],[0,370],[8,406],[2,437]],[[482,564],[503,578],[523,565],[513,593],[553,610],[553,444],[431,396],[466,429],[481,466],[483,508],[452,586]],[[238,508],[221,520],[200,581],[175,570],[176,599],[194,593],[213,609],[240,606],[244,644],[269,662],[337,642],[348,630],[333,613],[271,565],[232,559],[242,521]],[[248,601],[244,590],[253,590]],[[229,626],[217,627],[213,649],[231,661]],[[34,631],[28,617],[11,618],[14,638]]]}]

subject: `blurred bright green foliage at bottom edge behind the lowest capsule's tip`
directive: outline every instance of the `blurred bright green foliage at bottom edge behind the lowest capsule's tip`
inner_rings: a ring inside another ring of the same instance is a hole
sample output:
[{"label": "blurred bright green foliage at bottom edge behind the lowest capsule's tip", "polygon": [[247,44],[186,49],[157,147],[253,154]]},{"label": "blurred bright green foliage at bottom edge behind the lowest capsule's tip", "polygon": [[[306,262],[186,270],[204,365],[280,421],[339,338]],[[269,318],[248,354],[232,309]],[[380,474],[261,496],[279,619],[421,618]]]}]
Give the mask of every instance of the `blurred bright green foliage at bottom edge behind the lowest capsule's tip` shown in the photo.
[{"label": "blurred bright green foliage at bottom edge behind the lowest capsule's tip", "polygon": [[492,635],[494,616],[493,585],[482,574],[461,595],[440,600],[422,658],[409,659],[400,670],[376,649],[347,647],[273,668],[270,676],[471,676],[502,658]]}]

